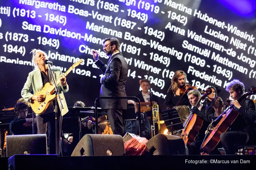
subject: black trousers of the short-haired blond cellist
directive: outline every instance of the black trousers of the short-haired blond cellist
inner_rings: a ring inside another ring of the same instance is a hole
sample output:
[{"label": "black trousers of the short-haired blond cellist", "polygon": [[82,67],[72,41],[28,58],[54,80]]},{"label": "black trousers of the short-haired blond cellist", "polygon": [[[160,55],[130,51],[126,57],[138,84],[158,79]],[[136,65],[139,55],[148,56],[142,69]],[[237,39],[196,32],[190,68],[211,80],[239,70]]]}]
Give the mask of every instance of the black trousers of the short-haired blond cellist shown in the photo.
[{"label": "black trousers of the short-haired blond cellist", "polygon": [[[189,155],[200,155],[203,150],[200,149],[203,140],[196,140],[190,144]],[[218,151],[218,148],[221,148],[221,145],[218,144],[217,147],[213,149],[213,151],[209,155],[221,155],[221,152]]]}]

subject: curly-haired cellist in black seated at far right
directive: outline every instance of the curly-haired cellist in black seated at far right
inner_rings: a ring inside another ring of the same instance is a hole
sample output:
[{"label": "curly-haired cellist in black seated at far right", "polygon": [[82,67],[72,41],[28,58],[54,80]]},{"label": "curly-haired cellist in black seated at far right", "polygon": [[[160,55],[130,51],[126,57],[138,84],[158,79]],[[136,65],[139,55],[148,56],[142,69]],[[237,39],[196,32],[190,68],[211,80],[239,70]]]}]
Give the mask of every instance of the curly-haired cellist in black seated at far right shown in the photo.
[{"label": "curly-haired cellist in black seated at far right", "polygon": [[244,84],[239,80],[232,80],[228,83],[226,91],[229,91],[231,104],[239,112],[238,117],[230,126],[228,132],[221,134],[220,139],[226,155],[234,155],[238,148],[237,145],[254,144],[255,131],[253,123],[256,119],[254,102],[251,99],[243,98]]}]

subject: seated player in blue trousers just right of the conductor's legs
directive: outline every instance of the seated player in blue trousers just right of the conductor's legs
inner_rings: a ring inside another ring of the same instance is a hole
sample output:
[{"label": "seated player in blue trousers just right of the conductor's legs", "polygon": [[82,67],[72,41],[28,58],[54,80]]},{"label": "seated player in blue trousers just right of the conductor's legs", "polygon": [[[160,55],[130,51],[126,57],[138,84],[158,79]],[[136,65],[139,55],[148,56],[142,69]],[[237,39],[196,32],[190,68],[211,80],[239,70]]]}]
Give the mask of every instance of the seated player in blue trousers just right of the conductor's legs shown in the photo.
[{"label": "seated player in blue trousers just right of the conductor's legs", "polygon": [[[133,104],[134,105],[134,112],[136,114],[136,119],[139,117],[139,112],[137,110],[137,105],[136,102],[134,102],[133,100],[128,100],[128,104]],[[129,114],[130,109],[128,109],[128,114]],[[132,112],[132,113],[134,113]],[[150,121],[147,118],[147,114],[146,113],[141,113],[141,115],[143,114],[143,116],[141,116],[141,126],[142,126],[142,137],[146,138],[147,140],[150,139],[150,133],[151,133],[151,126],[150,126]],[[136,135],[140,135],[140,124],[139,124],[139,120],[128,120],[125,121],[124,123],[125,125],[125,131],[129,132],[129,133],[133,133]]]}]

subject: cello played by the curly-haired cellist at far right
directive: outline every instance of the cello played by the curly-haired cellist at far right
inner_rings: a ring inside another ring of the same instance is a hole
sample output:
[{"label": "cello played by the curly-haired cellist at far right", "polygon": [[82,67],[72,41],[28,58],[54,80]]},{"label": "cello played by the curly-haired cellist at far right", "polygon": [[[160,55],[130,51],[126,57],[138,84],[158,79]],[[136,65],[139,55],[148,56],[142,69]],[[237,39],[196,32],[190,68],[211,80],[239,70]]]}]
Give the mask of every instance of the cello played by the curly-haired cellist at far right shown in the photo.
[{"label": "cello played by the curly-haired cellist at far right", "polygon": [[[251,88],[250,92],[247,92],[240,99],[238,99],[238,102],[240,103],[242,99],[254,94],[256,94],[256,89]],[[205,153],[210,154],[212,152],[212,150],[218,145],[219,141],[221,141],[220,139],[221,134],[226,132],[229,129],[229,127],[236,120],[238,115],[239,115],[239,112],[236,111],[234,109],[234,105],[231,104],[225,112],[219,115],[219,117],[217,117],[211,123],[211,124],[214,124],[217,120],[221,119],[219,120],[217,125],[213,128],[213,130],[211,131],[208,137],[207,137],[208,134],[206,134],[205,138],[206,137],[207,138],[203,141],[201,145],[201,149],[203,150],[202,154],[205,154]]]}]

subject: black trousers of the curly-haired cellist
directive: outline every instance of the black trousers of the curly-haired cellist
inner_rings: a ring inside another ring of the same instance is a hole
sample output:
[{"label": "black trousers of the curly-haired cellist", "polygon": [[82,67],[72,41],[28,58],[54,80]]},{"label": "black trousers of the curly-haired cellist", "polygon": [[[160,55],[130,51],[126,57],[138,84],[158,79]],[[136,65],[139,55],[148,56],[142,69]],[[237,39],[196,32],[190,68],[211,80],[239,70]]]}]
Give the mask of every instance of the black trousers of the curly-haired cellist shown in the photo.
[{"label": "black trousers of the curly-haired cellist", "polygon": [[249,135],[241,131],[224,132],[221,134],[221,143],[226,155],[235,155],[238,145],[244,145],[249,140]]}]

